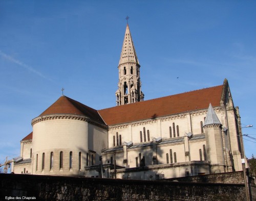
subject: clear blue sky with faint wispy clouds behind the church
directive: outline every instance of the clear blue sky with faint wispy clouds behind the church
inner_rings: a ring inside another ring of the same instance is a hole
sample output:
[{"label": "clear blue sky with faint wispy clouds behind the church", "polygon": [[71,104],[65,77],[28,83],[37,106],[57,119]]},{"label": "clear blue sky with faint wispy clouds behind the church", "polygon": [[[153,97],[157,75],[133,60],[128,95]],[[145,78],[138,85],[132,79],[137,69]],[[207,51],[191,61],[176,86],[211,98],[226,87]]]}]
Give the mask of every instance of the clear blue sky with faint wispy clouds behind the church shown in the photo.
[{"label": "clear blue sky with faint wispy clouds behind the church", "polygon": [[[255,1],[0,1],[0,163],[19,156],[31,120],[62,87],[94,109],[115,106],[126,15],[145,99],[227,78],[243,125],[256,128],[255,9]],[[256,138],[255,128],[243,134]],[[244,143],[256,155],[256,140]]]}]

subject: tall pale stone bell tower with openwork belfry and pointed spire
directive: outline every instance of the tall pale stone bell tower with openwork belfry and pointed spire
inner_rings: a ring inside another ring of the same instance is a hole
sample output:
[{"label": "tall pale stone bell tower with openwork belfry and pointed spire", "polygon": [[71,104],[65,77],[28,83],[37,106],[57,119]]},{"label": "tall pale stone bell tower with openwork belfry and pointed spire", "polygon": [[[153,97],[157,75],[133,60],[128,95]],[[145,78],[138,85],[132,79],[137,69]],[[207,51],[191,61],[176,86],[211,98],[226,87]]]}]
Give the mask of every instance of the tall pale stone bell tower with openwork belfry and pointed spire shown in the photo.
[{"label": "tall pale stone bell tower with openwork belfry and pointed spire", "polygon": [[140,64],[127,23],[118,65],[119,82],[116,91],[117,106],[143,101]]}]

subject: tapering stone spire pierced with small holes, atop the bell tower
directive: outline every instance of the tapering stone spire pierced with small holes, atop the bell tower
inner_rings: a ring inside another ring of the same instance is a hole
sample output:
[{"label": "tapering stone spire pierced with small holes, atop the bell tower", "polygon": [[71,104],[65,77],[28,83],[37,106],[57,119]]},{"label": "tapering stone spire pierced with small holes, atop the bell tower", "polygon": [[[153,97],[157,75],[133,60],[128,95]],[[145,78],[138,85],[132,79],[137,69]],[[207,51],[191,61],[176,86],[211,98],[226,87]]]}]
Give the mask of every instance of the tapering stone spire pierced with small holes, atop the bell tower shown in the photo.
[{"label": "tapering stone spire pierced with small holes, atop the bell tower", "polygon": [[127,62],[133,62],[133,63],[139,64],[139,60],[135,52],[135,47],[133,44],[133,40],[132,40],[132,36],[131,36],[131,32],[128,24],[126,26],[126,30],[124,34],[119,65]]}]

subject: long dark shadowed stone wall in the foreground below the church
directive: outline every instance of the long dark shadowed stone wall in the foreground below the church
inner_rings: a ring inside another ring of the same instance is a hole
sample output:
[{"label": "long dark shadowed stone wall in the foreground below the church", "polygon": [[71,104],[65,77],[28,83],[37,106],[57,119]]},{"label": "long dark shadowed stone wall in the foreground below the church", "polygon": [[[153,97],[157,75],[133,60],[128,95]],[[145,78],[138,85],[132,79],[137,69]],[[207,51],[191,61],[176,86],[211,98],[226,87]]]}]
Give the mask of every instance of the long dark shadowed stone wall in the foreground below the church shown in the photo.
[{"label": "long dark shadowed stone wall in the foreground below the church", "polygon": [[[244,200],[243,184],[0,174],[0,200]],[[26,196],[26,197],[23,197]],[[9,199],[11,200],[11,199]],[[17,200],[17,199],[16,199]]]}]

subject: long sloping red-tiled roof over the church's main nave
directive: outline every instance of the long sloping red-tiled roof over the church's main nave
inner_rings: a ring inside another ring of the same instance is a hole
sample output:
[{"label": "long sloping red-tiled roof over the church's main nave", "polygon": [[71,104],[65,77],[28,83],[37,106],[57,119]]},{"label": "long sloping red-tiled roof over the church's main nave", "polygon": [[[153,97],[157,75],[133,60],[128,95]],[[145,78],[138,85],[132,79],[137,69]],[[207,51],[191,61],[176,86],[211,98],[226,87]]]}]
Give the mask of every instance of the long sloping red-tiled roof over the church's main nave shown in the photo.
[{"label": "long sloping red-tiled roof over the church's main nave", "polygon": [[108,125],[220,106],[223,85],[98,110]]}]

